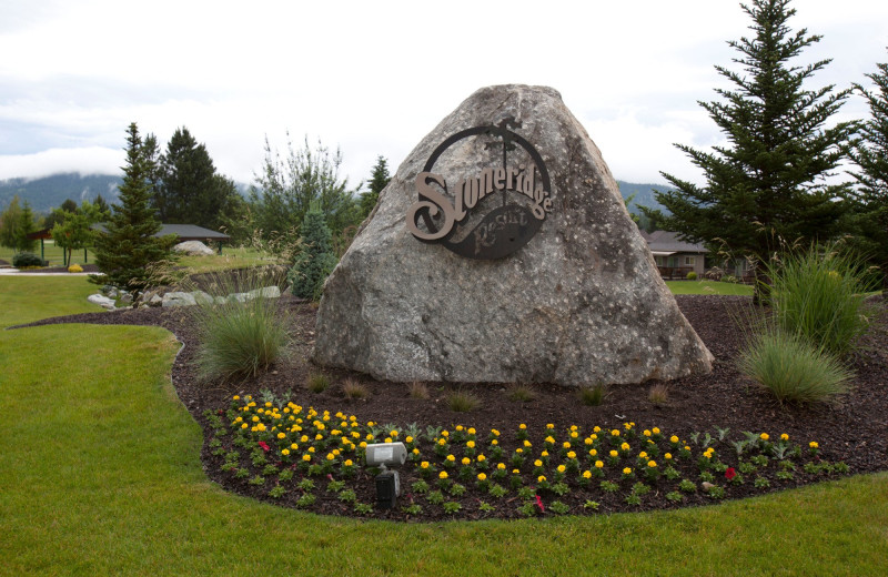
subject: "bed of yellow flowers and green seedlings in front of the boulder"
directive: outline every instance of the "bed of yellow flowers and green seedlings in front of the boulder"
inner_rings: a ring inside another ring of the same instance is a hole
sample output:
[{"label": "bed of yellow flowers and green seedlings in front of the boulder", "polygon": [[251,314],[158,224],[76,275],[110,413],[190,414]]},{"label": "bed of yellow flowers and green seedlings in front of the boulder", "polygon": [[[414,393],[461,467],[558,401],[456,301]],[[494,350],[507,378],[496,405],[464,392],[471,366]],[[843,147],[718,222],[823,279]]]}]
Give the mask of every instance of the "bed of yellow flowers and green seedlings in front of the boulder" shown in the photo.
[{"label": "bed of yellow flowers and green seedlings in front of the boulder", "polygon": [[[235,395],[206,412],[210,449],[233,484],[283,505],[394,519],[533,517],[663,508],[744,497],[847,474],[816,439],[729,429],[679,438],[625,422],[615,428],[547,424],[476,431],[361,423],[343,412]],[[403,494],[375,500],[370,443],[401,441]]]}]

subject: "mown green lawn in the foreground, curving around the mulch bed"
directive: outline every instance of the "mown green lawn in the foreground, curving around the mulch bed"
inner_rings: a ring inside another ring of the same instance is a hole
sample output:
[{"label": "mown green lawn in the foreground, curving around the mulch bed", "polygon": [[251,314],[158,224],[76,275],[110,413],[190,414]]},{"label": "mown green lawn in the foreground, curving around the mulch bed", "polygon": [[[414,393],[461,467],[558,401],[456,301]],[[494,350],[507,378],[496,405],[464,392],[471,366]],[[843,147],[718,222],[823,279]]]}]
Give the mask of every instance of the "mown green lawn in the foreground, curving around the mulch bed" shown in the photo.
[{"label": "mown green lawn in the foreground, curving around the mulch bed", "polygon": [[[30,279],[0,277],[2,324],[80,312],[77,280],[59,277],[37,313]],[[888,573],[888,474],[509,523],[361,522],[229,495],[205,478],[200,428],[170,384],[178,346],[157,327],[0,331],[0,575]]]}]

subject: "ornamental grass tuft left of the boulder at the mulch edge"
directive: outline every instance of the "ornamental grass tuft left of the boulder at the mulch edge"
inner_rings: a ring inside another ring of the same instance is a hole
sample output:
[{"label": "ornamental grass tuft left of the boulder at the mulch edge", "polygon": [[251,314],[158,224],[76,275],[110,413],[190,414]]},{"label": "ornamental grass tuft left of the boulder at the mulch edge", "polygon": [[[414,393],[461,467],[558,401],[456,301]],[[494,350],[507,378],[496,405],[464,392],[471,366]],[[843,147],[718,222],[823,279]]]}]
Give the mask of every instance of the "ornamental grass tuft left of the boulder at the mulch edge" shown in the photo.
[{"label": "ornamental grass tuft left of the boulder at the mulch edge", "polygon": [[204,381],[253,377],[274,363],[287,343],[287,317],[279,313],[278,300],[230,295],[259,291],[272,284],[255,272],[236,280],[216,274],[212,298],[199,297],[193,306],[200,345],[196,367]]}]

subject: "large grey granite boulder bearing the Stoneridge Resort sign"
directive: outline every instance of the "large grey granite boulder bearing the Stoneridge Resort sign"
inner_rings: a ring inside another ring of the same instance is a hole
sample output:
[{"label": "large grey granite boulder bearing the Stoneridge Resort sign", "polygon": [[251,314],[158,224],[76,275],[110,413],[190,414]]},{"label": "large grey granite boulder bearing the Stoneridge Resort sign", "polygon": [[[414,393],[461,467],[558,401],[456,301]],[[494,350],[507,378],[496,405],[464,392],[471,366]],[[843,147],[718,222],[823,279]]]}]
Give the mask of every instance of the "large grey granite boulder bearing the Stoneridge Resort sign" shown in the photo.
[{"label": "large grey granite boulder bearing the Stoneridge Resort sign", "polygon": [[314,361],[568,386],[712,368],[601,152],[526,85],[478,90],[401,164],[326,282]]}]

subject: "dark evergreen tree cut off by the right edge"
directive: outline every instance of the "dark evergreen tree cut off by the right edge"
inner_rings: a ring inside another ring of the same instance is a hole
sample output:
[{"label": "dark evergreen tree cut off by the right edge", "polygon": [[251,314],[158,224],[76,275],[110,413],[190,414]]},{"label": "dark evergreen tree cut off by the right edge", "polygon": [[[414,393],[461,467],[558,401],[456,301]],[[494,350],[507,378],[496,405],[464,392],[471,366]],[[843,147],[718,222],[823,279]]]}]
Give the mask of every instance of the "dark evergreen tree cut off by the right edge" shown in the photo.
[{"label": "dark evergreen tree cut off by the right edge", "polygon": [[862,239],[864,254],[881,269],[882,293],[888,291],[888,64],[876,64],[878,72],[867,74],[876,91],[859,91],[869,104],[870,118],[860,128],[860,139],[850,156],[860,166],[851,175],[857,189],[851,193],[852,223]]}]

